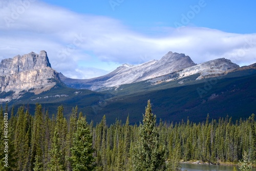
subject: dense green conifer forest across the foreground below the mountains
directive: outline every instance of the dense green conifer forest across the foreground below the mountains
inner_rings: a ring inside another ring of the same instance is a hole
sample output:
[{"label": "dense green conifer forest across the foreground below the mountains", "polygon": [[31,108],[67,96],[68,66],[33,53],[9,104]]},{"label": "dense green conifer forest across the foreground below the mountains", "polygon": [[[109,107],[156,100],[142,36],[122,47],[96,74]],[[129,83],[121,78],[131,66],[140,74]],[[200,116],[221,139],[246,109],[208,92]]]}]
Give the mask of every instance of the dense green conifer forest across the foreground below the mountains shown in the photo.
[{"label": "dense green conifer forest across the foreground below the mountains", "polygon": [[[4,141],[4,113],[0,109],[1,142]],[[150,101],[143,121],[130,125],[116,120],[106,124],[87,122],[72,109],[64,117],[63,106],[50,115],[36,104],[31,115],[25,106],[11,110],[8,127],[8,167],[4,145],[0,146],[0,170],[180,170],[180,161],[239,163],[243,154],[256,161],[256,122],[254,114],[232,122],[232,118],[193,123],[156,123]]]}]

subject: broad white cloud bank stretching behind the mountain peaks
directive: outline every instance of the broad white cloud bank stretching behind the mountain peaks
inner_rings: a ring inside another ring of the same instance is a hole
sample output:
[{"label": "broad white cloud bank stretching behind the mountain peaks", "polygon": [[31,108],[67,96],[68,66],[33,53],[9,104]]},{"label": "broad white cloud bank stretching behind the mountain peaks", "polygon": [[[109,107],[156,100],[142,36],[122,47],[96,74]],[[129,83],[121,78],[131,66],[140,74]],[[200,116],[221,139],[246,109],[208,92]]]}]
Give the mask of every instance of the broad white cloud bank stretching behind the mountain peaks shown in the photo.
[{"label": "broad white cloud bank stretching behind the mountain peaks", "polygon": [[[78,14],[34,0],[20,2],[0,5],[1,59],[46,50],[52,68],[70,77],[99,76],[122,63],[159,59],[168,51],[185,53],[196,63],[221,57],[238,65],[256,62],[256,34],[158,27],[152,28],[155,35],[146,35],[113,18]],[[81,66],[81,61],[88,62]]]}]

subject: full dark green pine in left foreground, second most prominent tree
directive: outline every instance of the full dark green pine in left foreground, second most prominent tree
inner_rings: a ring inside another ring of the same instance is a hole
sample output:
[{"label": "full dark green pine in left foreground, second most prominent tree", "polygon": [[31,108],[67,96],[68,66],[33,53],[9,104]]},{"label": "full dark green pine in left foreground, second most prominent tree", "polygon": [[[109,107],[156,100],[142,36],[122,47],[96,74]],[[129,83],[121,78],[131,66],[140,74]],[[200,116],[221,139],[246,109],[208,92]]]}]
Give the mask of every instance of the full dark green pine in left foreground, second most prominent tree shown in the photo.
[{"label": "full dark green pine in left foreground, second most prominent tree", "polygon": [[71,148],[72,169],[74,171],[93,170],[95,168],[93,152],[89,125],[85,117],[79,117]]}]

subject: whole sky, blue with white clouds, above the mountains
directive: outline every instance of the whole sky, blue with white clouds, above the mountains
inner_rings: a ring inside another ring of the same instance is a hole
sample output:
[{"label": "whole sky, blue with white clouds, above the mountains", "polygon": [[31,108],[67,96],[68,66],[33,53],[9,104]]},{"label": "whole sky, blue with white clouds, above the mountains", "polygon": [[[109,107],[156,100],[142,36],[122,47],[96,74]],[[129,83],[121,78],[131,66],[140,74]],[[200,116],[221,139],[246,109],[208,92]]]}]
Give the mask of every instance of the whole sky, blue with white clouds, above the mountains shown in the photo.
[{"label": "whole sky, blue with white clouds, above the mountains", "polygon": [[256,1],[0,2],[0,59],[46,50],[52,68],[92,78],[168,51],[196,63],[256,62]]}]

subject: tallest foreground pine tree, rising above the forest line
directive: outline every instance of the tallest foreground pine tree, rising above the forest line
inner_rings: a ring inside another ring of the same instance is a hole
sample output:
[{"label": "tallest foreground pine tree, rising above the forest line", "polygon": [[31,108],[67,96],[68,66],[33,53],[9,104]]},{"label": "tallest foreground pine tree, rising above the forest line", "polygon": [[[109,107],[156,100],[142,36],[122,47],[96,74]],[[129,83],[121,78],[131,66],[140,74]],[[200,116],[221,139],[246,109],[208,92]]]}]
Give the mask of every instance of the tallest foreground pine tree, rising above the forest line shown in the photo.
[{"label": "tallest foreground pine tree, rising above the forest line", "polygon": [[156,115],[153,116],[150,100],[147,101],[143,124],[139,127],[139,140],[134,151],[135,170],[163,170],[164,151],[159,150],[159,135],[156,128]]}]

